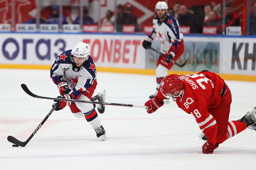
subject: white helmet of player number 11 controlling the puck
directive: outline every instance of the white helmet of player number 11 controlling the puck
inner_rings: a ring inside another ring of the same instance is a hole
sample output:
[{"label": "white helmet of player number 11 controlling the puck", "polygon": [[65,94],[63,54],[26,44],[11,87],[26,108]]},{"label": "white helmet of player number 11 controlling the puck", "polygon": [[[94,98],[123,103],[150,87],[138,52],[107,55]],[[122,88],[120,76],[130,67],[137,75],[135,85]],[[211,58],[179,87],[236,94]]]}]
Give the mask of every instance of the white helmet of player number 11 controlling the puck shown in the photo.
[{"label": "white helmet of player number 11 controlling the puck", "polygon": [[75,63],[74,56],[75,57],[83,57],[84,61],[88,60],[88,57],[90,55],[90,46],[87,43],[79,42],[77,43],[70,53],[70,59]]}]

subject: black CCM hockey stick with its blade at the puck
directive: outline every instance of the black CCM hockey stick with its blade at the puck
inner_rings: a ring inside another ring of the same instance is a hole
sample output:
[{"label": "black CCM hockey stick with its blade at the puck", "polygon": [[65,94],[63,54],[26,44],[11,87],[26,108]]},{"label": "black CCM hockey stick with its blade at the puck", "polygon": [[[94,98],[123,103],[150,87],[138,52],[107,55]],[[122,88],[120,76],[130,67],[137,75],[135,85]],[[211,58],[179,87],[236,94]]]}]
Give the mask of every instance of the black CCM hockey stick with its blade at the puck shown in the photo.
[{"label": "black CCM hockey stick with its blade at the puck", "polygon": [[14,138],[13,136],[8,136],[7,140],[11,143],[14,143],[15,145],[19,145],[21,147],[24,147],[27,145],[27,143],[31,140],[31,138],[33,138],[33,136],[36,134],[36,132],[42,127],[42,125],[45,123],[45,121],[48,119],[48,117],[51,115],[51,113],[54,111],[54,109],[56,108],[56,106],[58,102],[55,103],[55,105],[53,106],[53,108],[51,109],[51,111],[47,114],[47,116],[45,117],[45,119],[43,119],[43,121],[38,125],[38,127],[34,130],[34,132],[29,136],[29,138],[22,142],[19,141],[18,139]]}]

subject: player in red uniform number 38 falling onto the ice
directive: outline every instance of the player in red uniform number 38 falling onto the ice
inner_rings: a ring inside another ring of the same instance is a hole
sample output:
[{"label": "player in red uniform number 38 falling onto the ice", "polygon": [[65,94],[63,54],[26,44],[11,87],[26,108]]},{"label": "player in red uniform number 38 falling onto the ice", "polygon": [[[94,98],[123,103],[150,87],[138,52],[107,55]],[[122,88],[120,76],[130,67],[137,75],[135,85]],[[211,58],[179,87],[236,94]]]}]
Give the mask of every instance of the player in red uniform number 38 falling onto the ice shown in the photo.
[{"label": "player in red uniform number 38 falling onto the ice", "polygon": [[172,97],[179,108],[194,116],[206,136],[202,147],[205,154],[213,153],[219,144],[246,128],[256,130],[256,107],[240,120],[228,121],[232,101],[230,89],[220,76],[210,71],[166,76],[157,96],[145,103],[149,108],[147,112],[155,112],[163,106],[165,97]]}]

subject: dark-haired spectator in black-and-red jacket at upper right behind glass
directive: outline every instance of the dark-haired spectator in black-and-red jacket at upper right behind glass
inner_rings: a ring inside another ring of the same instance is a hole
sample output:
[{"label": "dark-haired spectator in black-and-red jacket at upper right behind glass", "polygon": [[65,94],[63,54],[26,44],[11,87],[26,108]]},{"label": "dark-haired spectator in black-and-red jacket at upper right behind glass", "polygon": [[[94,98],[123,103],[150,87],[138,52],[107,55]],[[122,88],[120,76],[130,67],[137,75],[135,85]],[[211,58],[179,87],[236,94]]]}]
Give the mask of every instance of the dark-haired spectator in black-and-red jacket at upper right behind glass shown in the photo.
[{"label": "dark-haired spectator in black-and-red jacket at upper right behind glass", "polygon": [[[226,4],[226,18],[225,18],[225,28],[229,26],[239,26],[239,16],[236,11],[233,11],[233,6],[231,3]],[[221,24],[218,30],[222,31],[223,25]]]}]

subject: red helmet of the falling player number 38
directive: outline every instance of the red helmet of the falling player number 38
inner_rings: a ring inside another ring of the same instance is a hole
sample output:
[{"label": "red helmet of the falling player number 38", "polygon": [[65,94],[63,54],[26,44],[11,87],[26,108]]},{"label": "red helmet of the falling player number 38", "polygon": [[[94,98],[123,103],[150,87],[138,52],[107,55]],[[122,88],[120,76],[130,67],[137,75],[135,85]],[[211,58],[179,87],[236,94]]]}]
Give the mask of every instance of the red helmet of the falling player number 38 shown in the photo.
[{"label": "red helmet of the falling player number 38", "polygon": [[170,74],[165,76],[160,85],[163,94],[172,94],[172,96],[174,96],[174,91],[181,91],[183,86],[183,79],[177,74]]}]

